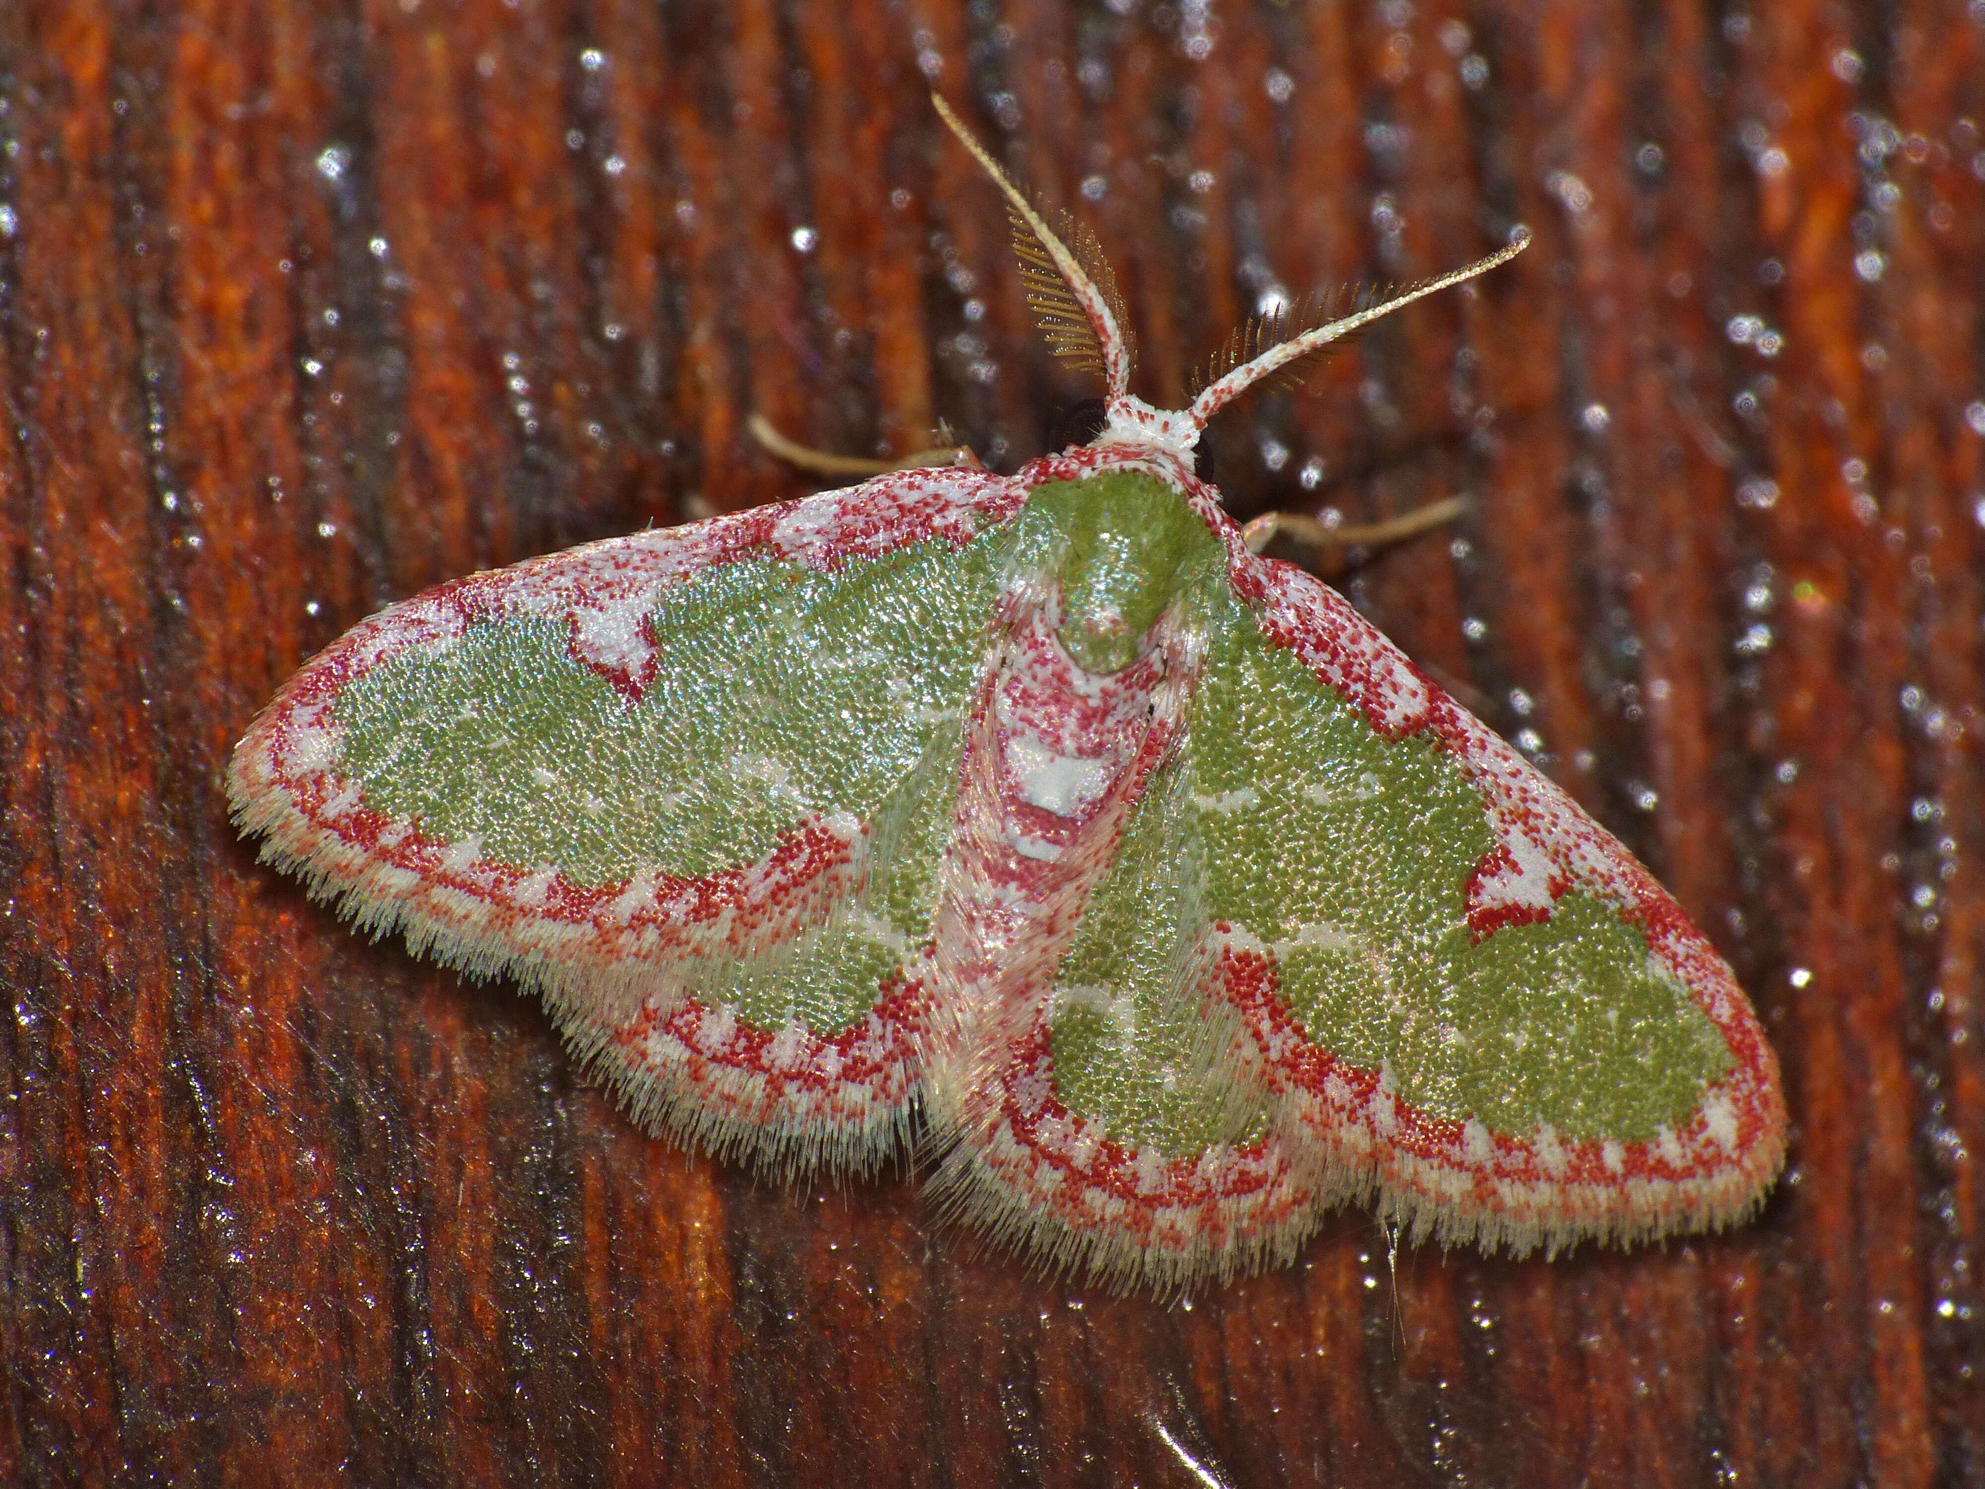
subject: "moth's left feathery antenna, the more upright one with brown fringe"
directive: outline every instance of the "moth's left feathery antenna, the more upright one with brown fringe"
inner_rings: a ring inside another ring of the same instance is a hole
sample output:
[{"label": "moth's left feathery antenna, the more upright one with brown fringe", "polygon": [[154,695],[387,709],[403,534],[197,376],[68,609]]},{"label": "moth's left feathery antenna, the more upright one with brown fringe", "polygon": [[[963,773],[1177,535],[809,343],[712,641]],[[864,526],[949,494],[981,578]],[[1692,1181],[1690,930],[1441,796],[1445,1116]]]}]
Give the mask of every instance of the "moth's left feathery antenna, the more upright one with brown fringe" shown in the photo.
[{"label": "moth's left feathery antenna, the more upright one with brown fringe", "polygon": [[1062,212],[1062,230],[1074,238],[1074,248],[1056,236],[1046,218],[1000,171],[985,145],[959,121],[937,93],[931,93],[937,115],[959,143],[973,153],[987,175],[1006,197],[1006,216],[1012,218],[1012,246],[1020,256],[1020,278],[1026,282],[1026,302],[1054,355],[1080,367],[1096,367],[1104,375],[1110,399],[1129,391],[1129,320],[1118,298],[1116,274],[1104,258],[1096,234]]}]

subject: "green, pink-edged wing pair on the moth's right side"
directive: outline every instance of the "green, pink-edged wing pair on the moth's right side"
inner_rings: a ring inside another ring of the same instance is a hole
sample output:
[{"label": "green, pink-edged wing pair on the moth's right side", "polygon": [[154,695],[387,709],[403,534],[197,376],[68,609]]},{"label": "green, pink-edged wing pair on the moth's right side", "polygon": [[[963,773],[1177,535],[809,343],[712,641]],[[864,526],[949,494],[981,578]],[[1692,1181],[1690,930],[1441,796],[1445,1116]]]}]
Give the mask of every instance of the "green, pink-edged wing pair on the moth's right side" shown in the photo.
[{"label": "green, pink-edged wing pair on the moth's right side", "polygon": [[949,1201],[1161,1290],[1284,1261],[1344,1199],[1517,1253],[1747,1213],[1785,1108],[1701,933],[1330,590],[1231,578]]}]

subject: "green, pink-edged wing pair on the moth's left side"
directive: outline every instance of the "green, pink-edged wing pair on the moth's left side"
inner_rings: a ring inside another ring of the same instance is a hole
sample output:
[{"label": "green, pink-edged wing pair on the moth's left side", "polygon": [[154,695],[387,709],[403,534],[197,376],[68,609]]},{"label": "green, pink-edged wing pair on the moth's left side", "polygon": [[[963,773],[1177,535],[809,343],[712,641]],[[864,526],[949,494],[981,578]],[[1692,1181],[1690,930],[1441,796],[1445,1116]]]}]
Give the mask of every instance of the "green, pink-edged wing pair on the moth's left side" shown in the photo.
[{"label": "green, pink-edged wing pair on the moth's left side", "polygon": [[905,471],[429,590],[262,711],[236,820],[361,929],[540,989],[649,1126],[867,1165],[1018,502]]}]

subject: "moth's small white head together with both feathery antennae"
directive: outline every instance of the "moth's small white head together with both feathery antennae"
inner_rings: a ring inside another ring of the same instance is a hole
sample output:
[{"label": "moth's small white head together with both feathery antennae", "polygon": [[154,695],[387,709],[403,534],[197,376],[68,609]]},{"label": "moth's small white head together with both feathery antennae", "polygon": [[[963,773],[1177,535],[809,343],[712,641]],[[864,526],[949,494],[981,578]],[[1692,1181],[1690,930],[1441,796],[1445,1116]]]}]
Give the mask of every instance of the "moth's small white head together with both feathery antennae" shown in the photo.
[{"label": "moth's small white head together with both feathery antennae", "polygon": [[1519,228],[1505,248],[1451,274],[1382,294],[1350,300],[1318,298],[1294,312],[1255,316],[1235,328],[1225,349],[1207,363],[1207,373],[1187,407],[1155,409],[1129,391],[1133,351],[1129,318],[1096,234],[1066,210],[1060,212],[1062,232],[1056,234],[1028,195],[959,121],[951,105],[935,93],[931,103],[1006,197],[1020,276],[1026,280],[1026,302],[1034,308],[1034,320],[1054,355],[1104,375],[1104,421],[1096,445],[1159,445],[1191,465],[1207,421],[1255,383],[1290,377],[1304,357],[1362,332],[1401,306],[1509,262],[1530,242],[1530,234]]}]

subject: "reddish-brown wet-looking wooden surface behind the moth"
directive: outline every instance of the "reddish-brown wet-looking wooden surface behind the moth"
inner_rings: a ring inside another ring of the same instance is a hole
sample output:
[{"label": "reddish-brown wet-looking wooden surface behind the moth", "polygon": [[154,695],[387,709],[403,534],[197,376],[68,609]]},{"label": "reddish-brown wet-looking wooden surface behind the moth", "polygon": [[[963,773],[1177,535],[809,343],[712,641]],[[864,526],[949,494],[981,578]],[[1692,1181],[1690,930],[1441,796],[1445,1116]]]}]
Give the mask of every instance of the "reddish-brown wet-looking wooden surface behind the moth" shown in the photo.
[{"label": "reddish-brown wet-looking wooden surface behind the moth", "polygon": [[[1477,498],[1350,594],[1737,967],[1757,1223],[1393,1267],[1352,1211],[1102,1296],[641,1138],[236,842],[304,657],[798,494],[752,407],[1042,449],[1092,389],[929,79],[1096,224],[1157,401],[1276,284],[1536,232],[1219,474]],[[0,105],[0,1479],[1985,1483],[1975,0],[24,0]]]}]

